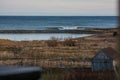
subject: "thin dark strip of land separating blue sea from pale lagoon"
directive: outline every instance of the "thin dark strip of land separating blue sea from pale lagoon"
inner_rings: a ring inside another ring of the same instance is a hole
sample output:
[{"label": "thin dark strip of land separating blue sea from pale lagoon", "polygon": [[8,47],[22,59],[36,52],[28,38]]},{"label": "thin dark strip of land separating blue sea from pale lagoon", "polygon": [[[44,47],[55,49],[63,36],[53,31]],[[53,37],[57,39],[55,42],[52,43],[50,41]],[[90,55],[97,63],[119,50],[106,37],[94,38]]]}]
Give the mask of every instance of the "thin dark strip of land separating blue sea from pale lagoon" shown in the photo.
[{"label": "thin dark strip of land separating blue sea from pale lagoon", "polygon": [[59,29],[48,29],[48,30],[0,30],[0,34],[6,33],[76,33],[76,34],[99,34],[103,31],[116,30],[117,28],[89,28],[84,30],[59,30]]}]

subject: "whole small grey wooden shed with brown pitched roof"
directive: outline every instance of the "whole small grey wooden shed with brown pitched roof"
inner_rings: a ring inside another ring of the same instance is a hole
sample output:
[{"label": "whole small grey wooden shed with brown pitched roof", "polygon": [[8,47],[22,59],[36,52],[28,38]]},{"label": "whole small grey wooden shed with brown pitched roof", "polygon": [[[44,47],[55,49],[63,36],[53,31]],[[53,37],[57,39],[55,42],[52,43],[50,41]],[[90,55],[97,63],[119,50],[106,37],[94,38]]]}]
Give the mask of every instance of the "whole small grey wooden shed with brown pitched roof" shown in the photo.
[{"label": "whole small grey wooden shed with brown pitched roof", "polygon": [[100,50],[92,58],[93,71],[113,70],[116,65],[118,53],[111,47]]}]

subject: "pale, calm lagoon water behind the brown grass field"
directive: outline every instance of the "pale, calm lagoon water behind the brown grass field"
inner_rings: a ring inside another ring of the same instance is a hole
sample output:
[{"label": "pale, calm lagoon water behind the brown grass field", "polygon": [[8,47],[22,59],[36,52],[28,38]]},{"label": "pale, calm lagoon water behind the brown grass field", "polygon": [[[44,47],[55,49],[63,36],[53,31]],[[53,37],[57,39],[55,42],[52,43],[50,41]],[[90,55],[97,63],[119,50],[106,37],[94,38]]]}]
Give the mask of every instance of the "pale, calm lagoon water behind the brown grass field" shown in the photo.
[{"label": "pale, calm lagoon water behind the brown grass field", "polygon": [[32,34],[0,34],[0,39],[8,39],[13,41],[32,41],[32,40],[49,40],[55,37],[59,40],[66,38],[80,38],[92,36],[93,34],[70,34],[70,33],[32,33]]}]

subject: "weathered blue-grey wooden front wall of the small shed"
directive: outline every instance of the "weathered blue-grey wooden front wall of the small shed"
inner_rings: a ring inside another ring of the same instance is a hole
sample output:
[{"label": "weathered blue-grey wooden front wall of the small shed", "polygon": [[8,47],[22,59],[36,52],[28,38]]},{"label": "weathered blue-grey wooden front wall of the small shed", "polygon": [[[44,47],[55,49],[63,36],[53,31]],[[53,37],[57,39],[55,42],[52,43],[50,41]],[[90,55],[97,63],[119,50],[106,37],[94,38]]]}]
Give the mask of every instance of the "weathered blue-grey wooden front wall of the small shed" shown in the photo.
[{"label": "weathered blue-grey wooden front wall of the small shed", "polygon": [[113,60],[111,57],[106,55],[103,51],[100,51],[92,59],[92,70],[93,71],[105,71],[113,69]]}]

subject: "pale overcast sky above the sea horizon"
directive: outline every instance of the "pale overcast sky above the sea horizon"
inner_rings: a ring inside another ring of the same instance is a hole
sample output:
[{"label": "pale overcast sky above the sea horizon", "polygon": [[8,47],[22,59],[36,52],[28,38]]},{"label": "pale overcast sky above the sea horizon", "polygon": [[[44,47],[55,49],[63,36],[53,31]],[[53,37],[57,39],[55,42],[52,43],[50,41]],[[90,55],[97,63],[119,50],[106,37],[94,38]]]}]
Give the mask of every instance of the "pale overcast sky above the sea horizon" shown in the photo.
[{"label": "pale overcast sky above the sea horizon", "polygon": [[116,16],[117,0],[0,0],[0,15]]}]

